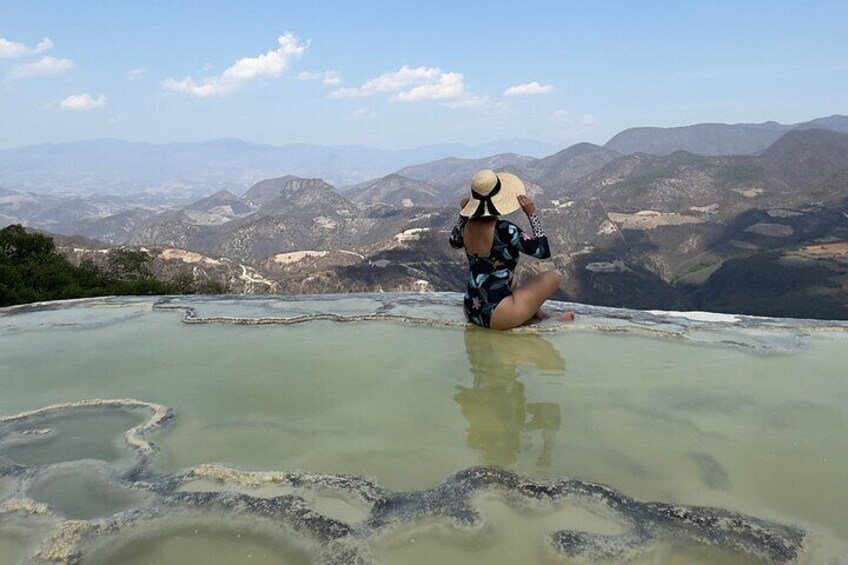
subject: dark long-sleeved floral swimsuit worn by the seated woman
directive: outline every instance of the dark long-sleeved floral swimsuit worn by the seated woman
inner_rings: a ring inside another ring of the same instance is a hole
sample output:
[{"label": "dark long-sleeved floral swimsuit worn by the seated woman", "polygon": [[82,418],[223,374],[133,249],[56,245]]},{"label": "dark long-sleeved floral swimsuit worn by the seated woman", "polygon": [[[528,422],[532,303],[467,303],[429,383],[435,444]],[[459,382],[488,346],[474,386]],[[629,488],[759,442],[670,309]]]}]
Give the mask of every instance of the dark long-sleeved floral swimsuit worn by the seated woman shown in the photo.
[{"label": "dark long-sleeved floral swimsuit worn by the seated woman", "polygon": [[[547,259],[551,256],[551,247],[539,217],[536,214],[528,214],[527,218],[533,228],[533,237],[512,222],[498,220],[495,224],[492,249],[488,255],[478,257],[466,250],[469,271],[464,310],[466,318],[472,324],[488,328],[497,305],[512,295],[512,280],[519,252],[537,259]],[[450,235],[451,247],[465,247],[463,232],[467,222],[467,218],[460,216]]]}]

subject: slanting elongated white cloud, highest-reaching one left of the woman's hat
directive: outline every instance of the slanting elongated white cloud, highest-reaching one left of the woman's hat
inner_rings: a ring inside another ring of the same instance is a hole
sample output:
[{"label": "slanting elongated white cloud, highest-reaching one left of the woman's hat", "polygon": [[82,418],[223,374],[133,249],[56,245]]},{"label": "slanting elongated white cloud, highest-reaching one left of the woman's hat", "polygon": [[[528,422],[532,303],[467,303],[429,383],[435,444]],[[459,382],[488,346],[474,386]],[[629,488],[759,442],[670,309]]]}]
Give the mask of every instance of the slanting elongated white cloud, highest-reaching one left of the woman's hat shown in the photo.
[{"label": "slanting elongated white cloud, highest-reaching one left of the woman's hat", "polygon": [[162,83],[162,87],[195,98],[209,98],[232,94],[257,79],[278,78],[294,59],[306,51],[309,42],[301,42],[294,34],[287,32],[277,38],[277,43],[280,45],[277,49],[256,57],[243,57],[218,76],[200,82],[190,76],[182,80],[168,79]]}]

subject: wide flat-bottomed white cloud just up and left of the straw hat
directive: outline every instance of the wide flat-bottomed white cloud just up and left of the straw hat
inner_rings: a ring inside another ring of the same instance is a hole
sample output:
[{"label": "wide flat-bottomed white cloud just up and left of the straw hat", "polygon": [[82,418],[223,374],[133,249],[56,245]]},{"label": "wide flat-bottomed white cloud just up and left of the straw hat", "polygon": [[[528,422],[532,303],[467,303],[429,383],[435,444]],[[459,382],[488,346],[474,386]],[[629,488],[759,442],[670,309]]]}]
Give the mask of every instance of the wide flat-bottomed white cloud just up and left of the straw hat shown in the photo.
[{"label": "wide flat-bottomed white cloud just up and left of the straw hat", "polygon": [[330,98],[356,98],[388,94],[391,102],[441,101],[451,108],[468,108],[491,102],[486,97],[468,91],[465,75],[445,72],[438,67],[402,66],[397,71],[383,73],[359,87],[339,88]]}]

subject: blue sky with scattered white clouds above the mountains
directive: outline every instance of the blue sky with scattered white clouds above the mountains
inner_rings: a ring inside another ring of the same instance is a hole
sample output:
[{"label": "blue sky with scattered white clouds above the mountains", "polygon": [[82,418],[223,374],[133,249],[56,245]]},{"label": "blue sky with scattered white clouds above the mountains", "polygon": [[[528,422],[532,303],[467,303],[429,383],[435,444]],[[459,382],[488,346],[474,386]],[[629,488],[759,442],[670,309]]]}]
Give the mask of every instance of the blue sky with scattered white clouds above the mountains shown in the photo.
[{"label": "blue sky with scattered white clouds above the mountains", "polygon": [[0,147],[791,123],[848,113],[846,21],[844,0],[0,0]]}]

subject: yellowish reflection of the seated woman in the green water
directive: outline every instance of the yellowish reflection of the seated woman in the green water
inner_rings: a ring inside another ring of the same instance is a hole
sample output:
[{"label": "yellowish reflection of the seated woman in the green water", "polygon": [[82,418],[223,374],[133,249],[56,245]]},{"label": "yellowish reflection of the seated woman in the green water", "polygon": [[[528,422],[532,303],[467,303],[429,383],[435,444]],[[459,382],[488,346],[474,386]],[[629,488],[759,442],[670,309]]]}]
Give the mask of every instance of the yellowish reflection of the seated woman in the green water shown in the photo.
[{"label": "yellowish reflection of the seated woman in the green water", "polygon": [[466,442],[486,465],[511,466],[518,460],[522,434],[539,430],[542,451],[536,461],[550,465],[561,412],[555,402],[527,402],[519,366],[542,371],[565,370],[556,348],[538,335],[516,335],[477,328],[465,331],[465,351],[474,382],[458,386],[456,396],[468,421]]}]

